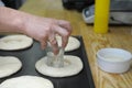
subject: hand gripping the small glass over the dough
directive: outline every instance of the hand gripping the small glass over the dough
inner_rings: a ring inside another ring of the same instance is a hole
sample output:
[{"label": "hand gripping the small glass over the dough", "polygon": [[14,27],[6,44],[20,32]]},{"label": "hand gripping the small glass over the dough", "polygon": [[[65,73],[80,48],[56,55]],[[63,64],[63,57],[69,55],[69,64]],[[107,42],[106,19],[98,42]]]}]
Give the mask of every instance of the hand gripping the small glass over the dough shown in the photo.
[{"label": "hand gripping the small glass over the dough", "polygon": [[72,33],[69,22],[48,18],[30,16],[24,23],[25,34],[41,42],[42,48],[45,48],[47,42],[51,43],[54,54],[58,53],[58,44],[55,35],[62,36],[62,47],[64,48]]}]

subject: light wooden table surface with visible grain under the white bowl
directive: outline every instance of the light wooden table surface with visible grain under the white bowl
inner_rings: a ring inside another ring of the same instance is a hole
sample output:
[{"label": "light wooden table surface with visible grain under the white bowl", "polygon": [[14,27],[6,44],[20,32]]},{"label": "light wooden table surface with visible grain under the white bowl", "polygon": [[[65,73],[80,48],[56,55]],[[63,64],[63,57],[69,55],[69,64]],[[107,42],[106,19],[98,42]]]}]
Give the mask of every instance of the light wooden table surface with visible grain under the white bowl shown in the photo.
[{"label": "light wooden table surface with visible grain under the white bowl", "polygon": [[124,74],[109,74],[98,68],[96,58],[97,51],[102,47],[119,47],[132,52],[131,26],[110,26],[109,33],[96,34],[94,26],[84,22],[81,13],[64,9],[62,0],[28,0],[20,10],[45,18],[67,20],[72,23],[72,35],[84,37],[96,88],[132,88],[132,67]]}]

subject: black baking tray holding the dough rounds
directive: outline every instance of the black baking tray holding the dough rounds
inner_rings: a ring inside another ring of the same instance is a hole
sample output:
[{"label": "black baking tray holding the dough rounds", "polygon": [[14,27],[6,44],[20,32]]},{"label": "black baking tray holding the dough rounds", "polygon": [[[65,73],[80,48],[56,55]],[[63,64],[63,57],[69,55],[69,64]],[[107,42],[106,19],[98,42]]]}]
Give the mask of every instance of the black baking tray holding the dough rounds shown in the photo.
[{"label": "black baking tray holding the dough rounds", "polygon": [[23,64],[22,68],[18,73],[0,79],[0,82],[2,82],[8,78],[31,75],[31,76],[40,76],[50,79],[54,84],[54,88],[95,88],[82,37],[81,36],[74,36],[74,37],[77,37],[77,40],[79,40],[81,44],[80,47],[75,51],[67,52],[65,54],[79,56],[81,58],[84,63],[84,69],[79,74],[70,77],[54,78],[37,73],[35,70],[35,63],[40,58],[45,56],[46,53],[45,50],[41,50],[40,43],[34,41],[33,45],[26,50],[13,51],[13,52],[0,51],[0,56],[16,56],[20,58],[20,61]]}]

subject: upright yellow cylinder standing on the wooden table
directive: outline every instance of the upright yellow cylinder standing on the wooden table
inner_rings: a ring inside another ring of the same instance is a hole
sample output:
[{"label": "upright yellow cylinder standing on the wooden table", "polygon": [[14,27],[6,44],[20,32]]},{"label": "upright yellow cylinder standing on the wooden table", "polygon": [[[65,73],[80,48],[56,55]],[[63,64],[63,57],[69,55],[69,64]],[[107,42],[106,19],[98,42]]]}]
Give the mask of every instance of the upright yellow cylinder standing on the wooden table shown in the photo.
[{"label": "upright yellow cylinder standing on the wooden table", "polygon": [[95,24],[96,33],[107,33],[109,24],[110,0],[96,0]]}]

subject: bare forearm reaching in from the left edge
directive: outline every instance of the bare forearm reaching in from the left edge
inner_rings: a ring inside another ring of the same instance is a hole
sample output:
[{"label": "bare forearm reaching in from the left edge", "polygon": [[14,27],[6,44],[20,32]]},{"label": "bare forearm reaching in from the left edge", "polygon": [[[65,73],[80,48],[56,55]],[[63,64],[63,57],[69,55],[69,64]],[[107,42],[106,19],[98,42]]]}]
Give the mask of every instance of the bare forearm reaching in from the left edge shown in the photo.
[{"label": "bare forearm reaching in from the left edge", "polygon": [[24,21],[26,13],[0,7],[0,32],[24,32]]}]

